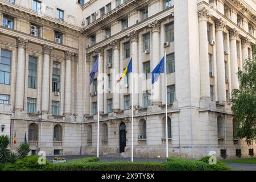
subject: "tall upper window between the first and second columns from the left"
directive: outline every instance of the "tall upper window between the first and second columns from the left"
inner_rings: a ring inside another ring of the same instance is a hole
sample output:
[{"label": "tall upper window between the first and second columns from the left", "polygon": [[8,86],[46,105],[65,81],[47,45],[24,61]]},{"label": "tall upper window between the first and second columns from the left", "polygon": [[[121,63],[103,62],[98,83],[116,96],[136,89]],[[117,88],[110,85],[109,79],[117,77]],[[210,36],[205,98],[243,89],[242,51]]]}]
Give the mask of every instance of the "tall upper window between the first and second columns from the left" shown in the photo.
[{"label": "tall upper window between the first and second columns from the left", "polygon": [[36,89],[36,77],[38,70],[38,59],[36,57],[28,57],[28,73],[27,73],[27,87]]}]

